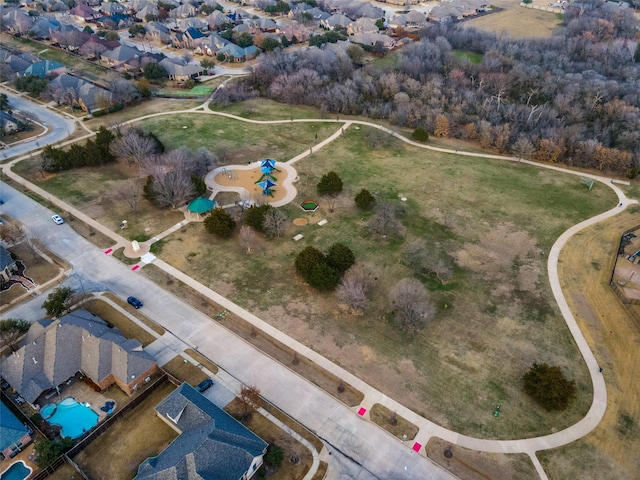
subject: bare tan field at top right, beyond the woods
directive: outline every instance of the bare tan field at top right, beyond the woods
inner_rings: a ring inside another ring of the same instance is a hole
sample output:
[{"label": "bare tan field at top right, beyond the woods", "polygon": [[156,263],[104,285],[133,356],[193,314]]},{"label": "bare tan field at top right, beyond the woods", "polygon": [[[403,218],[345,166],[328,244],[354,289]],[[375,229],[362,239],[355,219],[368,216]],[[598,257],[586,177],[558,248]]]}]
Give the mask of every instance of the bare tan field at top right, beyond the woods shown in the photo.
[{"label": "bare tan field at top right, beyond the woods", "polygon": [[[536,2],[540,4],[542,0]],[[461,25],[498,34],[506,33],[513,38],[525,38],[549,37],[562,22],[562,16],[556,13],[520,7],[517,0],[498,0],[492,4],[504,10],[467,20]]]}]

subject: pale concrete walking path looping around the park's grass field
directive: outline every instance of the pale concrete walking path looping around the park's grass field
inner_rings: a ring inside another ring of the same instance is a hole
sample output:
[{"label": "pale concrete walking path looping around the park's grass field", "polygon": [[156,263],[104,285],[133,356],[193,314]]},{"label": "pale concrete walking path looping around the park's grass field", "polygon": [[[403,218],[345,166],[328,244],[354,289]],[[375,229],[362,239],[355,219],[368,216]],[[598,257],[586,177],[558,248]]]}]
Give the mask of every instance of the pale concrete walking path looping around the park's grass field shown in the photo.
[{"label": "pale concrete walking path looping around the park's grass field", "polygon": [[[294,349],[295,351],[298,352],[299,355],[305,355],[306,357],[308,357],[310,360],[312,360],[314,363],[317,363],[319,366],[321,366],[322,368],[326,369],[327,371],[333,373],[334,375],[336,375],[337,377],[343,379],[345,382],[353,385],[353,387],[355,387],[356,389],[360,390],[363,394],[364,394],[364,400],[362,401],[362,404],[353,408],[353,415],[354,416],[358,416],[360,415],[361,417],[363,417],[364,419],[368,419],[368,412],[370,411],[371,407],[376,404],[376,403],[380,403],[384,406],[386,406],[387,408],[389,408],[392,411],[397,412],[398,415],[404,417],[405,419],[407,419],[409,422],[415,424],[417,427],[419,427],[419,432],[416,436],[416,438],[410,442],[404,442],[406,444],[406,446],[408,448],[414,449],[416,451],[419,452],[420,455],[425,456],[425,452],[424,452],[424,448],[423,447],[428,440],[432,437],[432,436],[437,436],[440,437],[442,439],[444,439],[447,442],[450,442],[452,444],[455,445],[460,445],[462,447],[466,447],[466,448],[470,448],[470,449],[474,449],[474,450],[479,450],[479,451],[484,451],[484,452],[496,452],[496,453],[525,453],[527,455],[529,455],[529,457],[531,458],[533,464],[535,465],[536,470],[538,471],[539,475],[541,478],[546,479],[547,476],[544,472],[544,469],[542,468],[542,465],[540,464],[540,462],[538,461],[535,452],[539,451],[539,450],[545,450],[545,449],[550,449],[550,448],[555,448],[555,447],[559,447],[562,445],[566,445],[568,443],[574,442],[575,440],[583,437],[584,435],[586,435],[587,433],[591,432],[600,422],[600,420],[602,419],[604,412],[606,410],[607,407],[607,391],[606,391],[606,385],[604,382],[604,379],[602,377],[602,374],[599,372],[599,366],[598,363],[593,355],[593,353],[591,352],[591,349],[589,348],[584,336],[582,335],[582,332],[580,331],[577,322],[575,320],[575,318],[573,317],[568,304],[562,294],[562,290],[560,288],[560,282],[558,279],[558,270],[557,270],[557,263],[558,263],[558,257],[560,254],[560,251],[562,250],[562,247],[564,246],[564,244],[577,232],[581,231],[582,229],[590,226],[590,225],[594,225],[606,218],[612,217],[614,215],[617,215],[618,213],[622,212],[627,206],[637,203],[636,200],[630,200],[626,197],[626,195],[624,194],[624,192],[622,192],[622,190],[613,183],[613,180],[604,176],[600,176],[600,175],[592,175],[592,174],[587,174],[587,173],[582,173],[582,172],[575,172],[569,169],[565,169],[562,167],[557,167],[557,166],[553,166],[553,165],[542,165],[542,164],[537,164],[535,162],[531,162],[531,161],[526,161],[526,160],[522,160],[519,158],[514,158],[514,157],[508,157],[508,156],[502,156],[502,155],[489,155],[489,154],[483,154],[483,153],[472,153],[472,152],[463,152],[463,151],[457,151],[457,150],[452,150],[452,149],[445,149],[445,148],[439,148],[439,147],[433,147],[433,146],[429,146],[429,145],[424,145],[418,142],[415,142],[413,140],[410,140],[406,137],[404,137],[403,135],[387,128],[384,127],[382,125],[378,125],[378,124],[374,124],[374,123],[370,123],[370,122],[365,122],[365,121],[359,121],[359,120],[345,120],[345,121],[341,121],[338,118],[334,119],[289,119],[289,120],[269,120],[269,121],[261,121],[261,120],[253,120],[253,119],[246,119],[246,118],[242,118],[236,115],[232,115],[232,114],[228,114],[228,113],[220,113],[220,112],[213,112],[211,110],[209,110],[208,108],[206,108],[208,105],[208,102],[204,105],[205,108],[203,108],[203,106],[200,107],[195,107],[193,109],[189,109],[189,110],[184,110],[184,111],[173,111],[173,112],[162,112],[162,113],[156,113],[156,114],[152,114],[152,115],[147,115],[144,117],[140,117],[138,119],[135,120],[131,120],[129,122],[126,122],[126,124],[130,124],[130,123],[134,123],[137,121],[140,121],[144,118],[149,118],[149,117],[155,117],[155,116],[160,116],[160,115],[176,115],[179,113],[197,113],[197,114],[210,114],[210,115],[219,115],[219,116],[224,116],[227,118],[231,118],[234,120],[238,120],[238,121],[244,121],[244,122],[249,122],[249,123],[255,123],[255,124],[263,124],[263,125],[269,125],[269,124],[282,124],[282,123],[288,123],[288,122],[332,122],[332,123],[336,123],[340,126],[339,130],[337,130],[332,136],[328,137],[327,139],[323,140],[322,142],[318,143],[317,145],[314,145],[313,147],[311,147],[308,151],[302,152],[300,155],[298,155],[297,157],[294,157],[293,159],[289,160],[289,162],[287,162],[288,164],[292,164],[295,163],[299,160],[301,160],[302,158],[310,155],[313,153],[313,151],[317,151],[318,149],[322,148],[323,146],[327,145],[328,143],[330,143],[331,141],[335,140],[336,138],[338,138],[341,133],[349,128],[351,125],[365,125],[368,127],[372,127],[372,128],[377,128],[385,133],[388,133],[390,135],[393,135],[394,137],[398,138],[399,140],[409,143],[413,146],[416,146],[418,148],[425,148],[425,149],[431,149],[431,150],[436,150],[439,152],[443,152],[443,153],[449,153],[449,154],[454,154],[454,155],[464,155],[464,156],[473,156],[473,157],[482,157],[482,158],[494,158],[494,159],[500,159],[500,160],[506,160],[506,161],[511,161],[511,162],[522,162],[522,163],[527,163],[530,165],[534,165],[538,168],[548,168],[548,169],[552,169],[558,172],[562,172],[562,173],[568,173],[568,174],[573,174],[573,175],[579,175],[581,177],[587,177],[590,178],[592,180],[601,182],[603,184],[605,184],[606,186],[608,186],[609,188],[613,189],[614,192],[616,193],[616,195],[618,196],[618,202],[619,204],[616,205],[616,207],[612,208],[611,210],[608,210],[604,213],[601,213],[600,215],[597,215],[593,218],[590,218],[588,220],[585,220],[581,223],[579,223],[578,225],[575,225],[573,227],[571,227],[569,230],[567,230],[566,232],[564,232],[559,238],[558,240],[554,243],[549,256],[548,256],[548,271],[549,271],[549,281],[551,284],[551,288],[553,291],[553,294],[556,298],[556,301],[558,302],[558,305],[560,307],[560,311],[562,312],[565,321],[567,322],[567,325],[569,327],[569,330],[571,331],[571,334],[574,337],[574,340],[576,341],[576,344],[578,345],[578,348],[585,360],[585,363],[589,369],[590,375],[591,375],[591,380],[592,380],[592,384],[593,384],[593,403],[591,405],[591,408],[589,409],[587,415],[580,420],[578,423],[576,423],[575,425],[572,425],[571,427],[562,430],[560,432],[556,432],[550,435],[545,435],[545,436],[541,436],[541,437],[536,437],[536,438],[528,438],[528,439],[522,439],[522,440],[487,440],[487,439],[480,439],[480,438],[473,438],[473,437],[469,437],[466,435],[460,435],[456,432],[453,432],[451,430],[448,430],[446,428],[443,428],[439,425],[436,425],[435,423],[420,417],[418,414],[414,413],[413,411],[407,409],[406,407],[404,407],[403,405],[401,405],[400,403],[398,403],[397,401],[395,401],[394,399],[384,395],[383,393],[379,392],[378,390],[374,389],[373,387],[371,387],[370,385],[366,384],[365,382],[363,382],[362,380],[360,380],[359,378],[353,376],[352,374],[350,374],[349,372],[347,372],[346,370],[344,370],[343,368],[339,367],[338,365],[330,362],[329,360],[327,360],[326,358],[322,357],[321,355],[317,354],[315,351],[309,349],[308,347],[306,347],[305,345],[302,345],[301,343],[299,343],[298,341],[296,341],[295,339],[289,337],[288,335],[286,335],[285,333],[275,329],[274,327],[272,327],[271,325],[267,324],[266,322],[264,322],[263,320],[261,320],[260,318],[256,317],[255,315],[253,315],[252,313],[244,310],[243,308],[241,308],[240,306],[234,304],[233,302],[231,302],[230,300],[228,300],[227,298],[219,295],[218,293],[214,292],[213,290],[205,287],[204,285],[196,282],[195,280],[193,280],[191,277],[189,277],[188,275],[186,275],[185,273],[177,270],[176,268],[172,267],[171,265],[168,265],[167,263],[163,262],[162,260],[159,259],[154,259],[153,263],[154,265],[156,265],[156,267],[164,270],[166,273],[174,276],[175,278],[177,278],[178,280],[184,282],[185,284],[189,285],[191,288],[195,289],[196,291],[198,291],[200,294],[205,295],[206,297],[212,299],[213,301],[217,302],[221,307],[227,309],[230,312],[235,313],[236,315],[239,315],[240,317],[242,317],[244,320],[246,320],[247,322],[250,322],[251,324],[253,324],[257,329],[262,330],[265,334],[270,335],[272,337],[274,337],[275,339],[277,339],[280,342],[283,342],[284,344],[286,344],[287,346],[289,346],[290,348]],[[43,191],[42,189],[38,188],[36,185],[31,184],[30,182],[26,181],[25,179],[19,177],[18,175],[14,174],[11,171],[11,166],[13,164],[15,164],[16,162],[20,161],[21,159],[23,159],[25,157],[21,157],[21,158],[17,158],[15,160],[13,160],[12,162],[3,165],[3,171],[4,173],[9,176],[10,178],[12,178],[14,181],[26,186],[27,188],[35,191],[36,193],[38,193],[39,195],[41,195],[43,198],[48,199],[49,201],[51,201],[52,203],[58,205],[60,208],[66,210],[67,212],[69,212],[69,214],[77,217],[78,219],[81,219],[82,221],[86,222],[87,224],[91,225],[95,230],[100,231],[101,233],[103,233],[104,235],[108,236],[109,238],[112,238],[115,242],[116,245],[113,247],[113,249],[117,249],[120,248],[121,246],[126,246],[129,244],[129,241],[126,240],[125,238],[121,237],[120,235],[118,235],[115,232],[110,231],[109,229],[105,228],[104,226],[102,226],[101,224],[99,224],[98,222],[96,222],[95,220],[89,218],[88,216],[84,215],[82,212],[78,211],[76,208],[74,208],[73,206],[69,205],[66,202],[63,202],[57,198],[54,198],[51,196],[51,194]],[[292,198],[289,199],[289,201],[293,200],[293,197],[295,197],[294,194],[292,194]],[[189,221],[189,219],[186,219],[186,221]],[[179,226],[184,225],[185,222],[181,222],[179,224]],[[178,226],[174,226],[175,228],[179,228]],[[158,234],[155,236],[155,238],[162,238],[164,236],[163,233]],[[134,267],[136,268],[136,267]],[[287,395],[287,392],[285,389],[282,390],[282,395]],[[274,403],[278,403],[277,401]],[[313,414],[313,412],[309,412],[309,414]],[[299,420],[302,421],[302,423],[305,423],[305,419],[304,418],[299,418],[300,415],[304,415],[304,413],[300,413],[298,412],[298,414],[296,415],[296,417],[298,417]]]}]

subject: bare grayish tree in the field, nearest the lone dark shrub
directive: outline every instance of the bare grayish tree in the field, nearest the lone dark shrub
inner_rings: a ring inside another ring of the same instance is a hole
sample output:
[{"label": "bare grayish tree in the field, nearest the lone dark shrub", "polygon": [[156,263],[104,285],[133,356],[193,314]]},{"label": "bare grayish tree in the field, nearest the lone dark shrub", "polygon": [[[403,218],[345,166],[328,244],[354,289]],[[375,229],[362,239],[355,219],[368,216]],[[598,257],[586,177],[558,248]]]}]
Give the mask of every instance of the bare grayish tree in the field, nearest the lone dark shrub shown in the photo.
[{"label": "bare grayish tree in the field, nearest the lone dark shrub", "polygon": [[427,289],[415,278],[400,280],[389,292],[389,301],[398,324],[409,332],[424,328],[435,313]]}]

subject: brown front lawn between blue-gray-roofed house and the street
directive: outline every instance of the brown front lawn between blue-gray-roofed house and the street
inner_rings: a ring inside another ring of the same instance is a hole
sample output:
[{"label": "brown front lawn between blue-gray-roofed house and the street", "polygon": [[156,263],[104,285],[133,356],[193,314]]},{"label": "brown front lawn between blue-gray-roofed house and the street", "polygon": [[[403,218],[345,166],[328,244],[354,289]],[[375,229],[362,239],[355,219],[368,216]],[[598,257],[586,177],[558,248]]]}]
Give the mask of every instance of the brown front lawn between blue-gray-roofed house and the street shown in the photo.
[{"label": "brown front lawn between blue-gray-roofed house and the street", "polygon": [[[244,413],[242,405],[237,398],[229,403],[224,410],[233,416]],[[276,444],[284,450],[284,462],[275,474],[269,475],[270,479],[299,480],[309,471],[313,462],[311,452],[280,427],[271,423],[265,416],[254,412],[249,420],[245,420],[242,423],[265,442]],[[292,456],[298,458],[296,463],[291,461]]]}]

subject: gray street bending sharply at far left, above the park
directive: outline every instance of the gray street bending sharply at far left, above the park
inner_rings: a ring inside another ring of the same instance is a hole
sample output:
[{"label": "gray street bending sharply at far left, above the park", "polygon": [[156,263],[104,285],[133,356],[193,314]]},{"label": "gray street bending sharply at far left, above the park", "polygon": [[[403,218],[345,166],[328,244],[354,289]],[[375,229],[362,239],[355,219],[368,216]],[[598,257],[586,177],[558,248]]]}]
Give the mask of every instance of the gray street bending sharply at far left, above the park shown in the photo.
[{"label": "gray street bending sharply at far left, above the park", "polygon": [[51,145],[59,142],[60,140],[64,140],[75,130],[74,122],[72,120],[52,112],[46,107],[33,103],[30,100],[19,97],[4,89],[1,85],[0,92],[5,93],[7,97],[9,97],[9,105],[13,110],[29,112],[31,115],[36,117],[39,123],[47,128],[47,132],[38,138],[1,150],[3,160],[5,158],[24,155],[32,150],[38,150],[46,145]]}]

